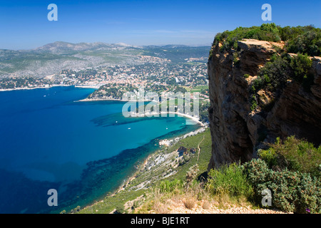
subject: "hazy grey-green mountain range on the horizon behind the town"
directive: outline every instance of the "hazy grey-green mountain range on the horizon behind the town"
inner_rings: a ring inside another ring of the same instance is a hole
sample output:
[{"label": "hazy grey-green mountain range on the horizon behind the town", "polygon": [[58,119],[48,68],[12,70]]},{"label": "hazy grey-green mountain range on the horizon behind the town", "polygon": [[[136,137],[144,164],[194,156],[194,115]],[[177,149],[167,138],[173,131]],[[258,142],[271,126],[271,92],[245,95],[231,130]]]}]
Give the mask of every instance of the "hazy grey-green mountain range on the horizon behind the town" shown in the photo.
[{"label": "hazy grey-green mountain range on the horizon behind the town", "polygon": [[63,69],[80,71],[84,68],[136,65],[144,63],[141,56],[167,58],[173,63],[183,63],[186,58],[205,59],[209,50],[209,46],[131,46],[126,43],[57,41],[30,50],[0,49],[0,78],[41,78]]}]

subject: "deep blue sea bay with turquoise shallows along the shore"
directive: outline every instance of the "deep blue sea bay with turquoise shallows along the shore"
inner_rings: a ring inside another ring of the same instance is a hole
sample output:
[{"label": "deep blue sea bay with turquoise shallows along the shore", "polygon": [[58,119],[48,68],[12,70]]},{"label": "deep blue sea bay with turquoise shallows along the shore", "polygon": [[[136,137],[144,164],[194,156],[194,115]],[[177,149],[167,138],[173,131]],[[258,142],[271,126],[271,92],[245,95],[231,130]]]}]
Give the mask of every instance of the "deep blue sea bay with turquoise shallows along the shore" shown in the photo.
[{"label": "deep blue sea bay with turquoise shallows along the shore", "polygon": [[[183,117],[124,118],[121,101],[75,102],[93,89],[0,92],[0,213],[58,213],[116,190],[158,141],[199,128]],[[47,204],[49,189],[58,206]]]}]

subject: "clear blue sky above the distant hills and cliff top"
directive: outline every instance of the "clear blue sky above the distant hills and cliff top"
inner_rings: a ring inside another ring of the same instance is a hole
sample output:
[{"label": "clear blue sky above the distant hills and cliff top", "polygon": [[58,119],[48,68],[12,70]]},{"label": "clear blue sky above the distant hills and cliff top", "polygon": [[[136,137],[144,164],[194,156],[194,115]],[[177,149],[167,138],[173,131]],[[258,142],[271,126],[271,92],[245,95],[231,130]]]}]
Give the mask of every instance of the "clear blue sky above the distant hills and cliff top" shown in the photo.
[{"label": "clear blue sky above the distant hills and cliff top", "polygon": [[[48,21],[49,4],[58,21]],[[259,26],[263,4],[280,26],[321,26],[321,1],[0,1],[0,48],[29,49],[54,41],[71,43],[185,44],[210,46],[216,33]]]}]

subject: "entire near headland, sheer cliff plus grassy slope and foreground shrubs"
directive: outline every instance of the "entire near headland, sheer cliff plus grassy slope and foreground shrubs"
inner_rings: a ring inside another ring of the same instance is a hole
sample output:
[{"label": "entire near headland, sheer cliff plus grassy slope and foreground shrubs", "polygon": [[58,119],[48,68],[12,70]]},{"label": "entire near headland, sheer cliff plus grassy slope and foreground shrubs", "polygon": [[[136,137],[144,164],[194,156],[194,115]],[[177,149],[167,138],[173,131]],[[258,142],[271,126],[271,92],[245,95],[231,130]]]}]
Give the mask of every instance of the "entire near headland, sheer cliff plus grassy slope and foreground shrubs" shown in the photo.
[{"label": "entire near headland, sheer cliff plus grassy slope and foreground shrubs", "polygon": [[218,34],[210,129],[174,140],[117,192],[72,212],[320,213],[321,58],[309,56],[320,55],[320,34],[274,24]]}]

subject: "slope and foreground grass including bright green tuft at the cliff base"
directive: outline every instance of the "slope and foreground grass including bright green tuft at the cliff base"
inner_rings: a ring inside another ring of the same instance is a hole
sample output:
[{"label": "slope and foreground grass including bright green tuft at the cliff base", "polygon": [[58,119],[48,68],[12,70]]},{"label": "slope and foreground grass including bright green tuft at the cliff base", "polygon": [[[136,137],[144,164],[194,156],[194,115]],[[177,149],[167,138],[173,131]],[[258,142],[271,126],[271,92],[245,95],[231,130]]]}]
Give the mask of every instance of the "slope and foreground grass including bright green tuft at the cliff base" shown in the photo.
[{"label": "slope and foreground grass including bright green tuft at the cliff base", "polygon": [[[166,157],[161,165],[151,165],[150,170],[141,166],[136,172],[136,178],[131,180],[125,190],[115,195],[108,196],[103,201],[81,209],[78,213],[110,213],[118,208],[123,213],[168,213],[180,205],[185,209],[203,207],[210,209],[215,206],[220,209],[236,206],[252,206],[249,201],[251,195],[250,185],[244,180],[238,165],[223,166],[219,170],[210,172],[215,181],[209,180],[208,184],[197,179],[208,168],[211,156],[211,138],[209,128],[203,133],[182,139],[170,147],[165,147],[151,155],[148,162],[155,162],[160,157]],[[188,162],[178,165],[177,152],[179,147],[195,148],[198,150],[190,155]],[[167,162],[166,162],[167,161]],[[195,166],[197,164],[197,166]],[[194,180],[187,183],[187,172],[198,167]],[[163,177],[172,169],[172,175]],[[141,184],[144,184],[144,188]],[[225,190],[222,190],[222,187]],[[131,203],[128,203],[131,202]],[[133,203],[134,202],[134,203]],[[135,205],[128,206],[128,205]]]}]

